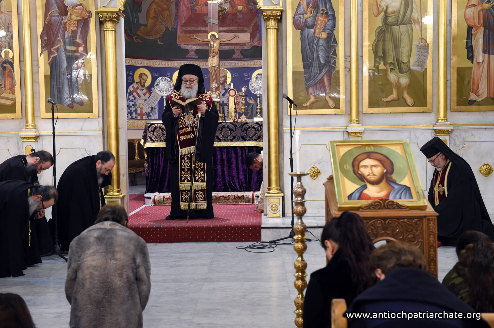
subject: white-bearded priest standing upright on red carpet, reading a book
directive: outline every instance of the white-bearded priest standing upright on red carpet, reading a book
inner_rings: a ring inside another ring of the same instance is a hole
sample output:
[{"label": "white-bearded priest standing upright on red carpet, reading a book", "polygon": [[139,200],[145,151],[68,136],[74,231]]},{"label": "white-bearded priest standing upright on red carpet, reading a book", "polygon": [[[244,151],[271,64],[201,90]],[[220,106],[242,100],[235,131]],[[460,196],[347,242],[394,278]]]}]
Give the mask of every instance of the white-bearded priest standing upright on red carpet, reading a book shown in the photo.
[{"label": "white-bearded priest standing upright on red carpet, reading a book", "polygon": [[[166,157],[170,161],[171,212],[166,220],[186,218],[191,178],[189,217],[213,218],[212,156],[218,110],[211,94],[205,90],[201,67],[180,66],[162,118],[166,129]],[[191,177],[196,144],[196,171]]]}]

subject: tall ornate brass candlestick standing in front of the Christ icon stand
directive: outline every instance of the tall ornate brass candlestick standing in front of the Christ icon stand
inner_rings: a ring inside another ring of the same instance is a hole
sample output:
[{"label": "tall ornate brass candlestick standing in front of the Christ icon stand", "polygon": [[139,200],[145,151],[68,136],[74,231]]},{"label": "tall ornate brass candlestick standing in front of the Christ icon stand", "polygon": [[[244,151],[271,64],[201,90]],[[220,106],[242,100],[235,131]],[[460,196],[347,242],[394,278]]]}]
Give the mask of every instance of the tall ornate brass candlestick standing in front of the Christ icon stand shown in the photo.
[{"label": "tall ornate brass candlestick standing in front of the Christ icon stand", "polygon": [[291,172],[288,174],[297,178],[297,183],[295,184],[295,187],[293,187],[293,196],[295,196],[295,198],[293,198],[293,213],[297,216],[297,222],[293,225],[293,231],[295,232],[295,235],[293,236],[293,239],[295,240],[293,249],[298,254],[298,257],[295,263],[293,263],[293,267],[295,268],[295,282],[293,285],[297,289],[298,295],[293,302],[295,303],[295,326],[303,328],[304,290],[307,288],[307,280],[305,280],[305,277],[307,276],[307,273],[305,273],[307,262],[305,262],[303,255],[307,250],[307,244],[305,243],[305,239],[307,239],[305,237],[305,230],[307,230],[307,227],[302,220],[302,217],[306,212],[304,205],[306,190],[302,185],[302,177],[309,173]]}]

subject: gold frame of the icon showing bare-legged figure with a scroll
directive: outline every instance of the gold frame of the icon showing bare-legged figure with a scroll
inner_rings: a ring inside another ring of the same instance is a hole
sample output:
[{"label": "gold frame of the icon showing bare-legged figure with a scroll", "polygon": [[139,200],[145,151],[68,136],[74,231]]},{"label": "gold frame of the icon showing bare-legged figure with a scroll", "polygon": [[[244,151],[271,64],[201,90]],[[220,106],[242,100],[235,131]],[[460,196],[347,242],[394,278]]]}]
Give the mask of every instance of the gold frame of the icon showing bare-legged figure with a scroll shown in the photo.
[{"label": "gold frame of the icon showing bare-legged figure with a scroll", "polygon": [[[420,10],[420,1],[421,0],[413,0],[417,1],[417,10]],[[373,63],[369,63],[369,52],[372,51],[372,42],[369,40],[369,35],[375,34],[375,31],[369,31],[369,16],[370,16],[370,10],[372,9],[372,2],[371,1],[363,1],[363,13],[364,13],[364,49],[363,49],[363,54],[364,54],[364,64],[363,64],[363,93],[364,93],[364,99],[363,99],[363,108],[364,108],[364,113],[413,113],[413,112],[432,112],[432,44],[433,44],[433,18],[432,18],[432,13],[433,13],[433,0],[423,0],[422,3],[423,7],[427,10],[427,15],[422,15],[421,21],[422,21],[422,31],[425,30],[424,27],[427,29],[427,42],[429,44],[429,58],[427,59],[427,65],[426,65],[426,70],[427,70],[427,75],[424,77],[424,81],[427,83],[426,87],[424,87],[427,91],[427,99],[426,99],[426,105],[425,106],[420,106],[416,107],[415,105],[413,106],[403,106],[403,107],[369,107],[369,69],[373,68]],[[422,8],[422,12],[423,12]],[[381,16],[383,13],[381,13],[378,17],[373,18],[376,21],[380,22],[381,21]],[[420,13],[419,13],[420,15]],[[380,23],[379,23],[380,24]],[[415,37],[416,31],[415,27],[412,27],[413,29],[413,39],[412,42],[416,42],[417,39]],[[422,36],[423,37],[423,36]],[[372,40],[373,41],[373,40]],[[414,46],[412,46],[412,58],[410,59],[410,65],[413,64],[413,56],[414,52],[413,50],[415,49]],[[381,68],[382,67],[382,68]],[[384,76],[386,76],[386,69],[382,66],[379,67],[380,71],[384,72]],[[413,71],[412,71],[413,73]],[[424,72],[421,72],[419,75],[424,74]],[[425,74],[424,74],[425,75]],[[422,79],[421,79],[422,80]],[[389,82],[388,82],[389,83]],[[422,88],[420,88],[422,89]],[[424,91],[425,91],[424,89]],[[388,95],[386,95],[388,96]],[[398,97],[400,97],[399,101],[403,101],[402,98],[402,90],[401,88],[398,87]],[[392,104],[395,101],[390,101],[389,103]]]}]

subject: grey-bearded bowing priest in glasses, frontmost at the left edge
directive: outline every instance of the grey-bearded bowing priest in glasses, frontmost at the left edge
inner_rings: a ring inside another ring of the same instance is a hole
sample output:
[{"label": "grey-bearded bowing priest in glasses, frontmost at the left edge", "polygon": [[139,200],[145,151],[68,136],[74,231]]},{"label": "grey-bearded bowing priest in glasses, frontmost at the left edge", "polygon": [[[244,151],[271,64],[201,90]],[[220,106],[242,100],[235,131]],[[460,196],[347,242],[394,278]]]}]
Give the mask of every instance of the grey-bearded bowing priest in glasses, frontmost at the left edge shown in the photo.
[{"label": "grey-bearded bowing priest in glasses, frontmost at the left edge", "polygon": [[41,263],[33,225],[57,197],[54,187],[38,182],[0,182],[0,278],[22,276],[27,266]]}]

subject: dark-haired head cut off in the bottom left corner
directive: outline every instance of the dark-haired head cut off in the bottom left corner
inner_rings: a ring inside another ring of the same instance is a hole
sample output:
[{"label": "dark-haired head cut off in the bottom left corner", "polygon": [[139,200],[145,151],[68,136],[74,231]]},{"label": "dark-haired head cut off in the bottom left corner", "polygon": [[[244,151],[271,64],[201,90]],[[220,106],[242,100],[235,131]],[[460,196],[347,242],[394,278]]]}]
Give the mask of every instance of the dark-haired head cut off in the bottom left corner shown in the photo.
[{"label": "dark-haired head cut off in the bottom left corner", "polygon": [[21,296],[0,293],[0,328],[35,328],[28,306]]}]

